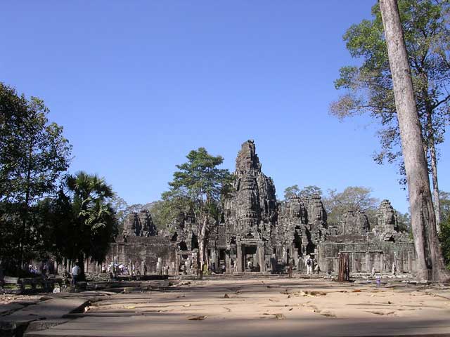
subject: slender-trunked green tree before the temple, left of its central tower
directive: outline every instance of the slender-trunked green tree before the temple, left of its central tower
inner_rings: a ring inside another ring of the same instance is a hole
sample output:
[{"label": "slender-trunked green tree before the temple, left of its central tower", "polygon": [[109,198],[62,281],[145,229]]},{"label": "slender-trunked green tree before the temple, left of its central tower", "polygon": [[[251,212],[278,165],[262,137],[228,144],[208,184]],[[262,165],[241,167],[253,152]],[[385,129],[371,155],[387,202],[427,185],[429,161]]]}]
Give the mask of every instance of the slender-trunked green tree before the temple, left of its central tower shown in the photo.
[{"label": "slender-trunked green tree before the temple, left of its central tower", "polygon": [[192,150],[186,156],[188,161],[177,165],[174,180],[169,183],[170,190],[162,194],[164,212],[174,218],[179,212],[191,212],[198,224],[199,272],[203,277],[205,249],[210,226],[219,220],[219,201],[226,192],[231,175],[226,169],[219,169],[224,159],[214,157],[204,147]]}]

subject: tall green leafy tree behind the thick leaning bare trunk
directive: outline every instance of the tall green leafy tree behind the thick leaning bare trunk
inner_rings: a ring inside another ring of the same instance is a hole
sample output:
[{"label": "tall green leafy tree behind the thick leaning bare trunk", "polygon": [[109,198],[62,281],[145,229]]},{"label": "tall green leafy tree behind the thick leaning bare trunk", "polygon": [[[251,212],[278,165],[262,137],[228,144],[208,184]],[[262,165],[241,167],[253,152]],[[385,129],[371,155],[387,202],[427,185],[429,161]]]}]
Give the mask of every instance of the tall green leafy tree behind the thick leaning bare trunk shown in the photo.
[{"label": "tall green leafy tree behind the thick leaning bare trunk", "polygon": [[[443,142],[449,121],[450,94],[446,90],[450,84],[449,2],[399,0],[398,6],[439,223],[436,145]],[[360,67],[340,69],[335,87],[345,93],[330,105],[330,112],[339,119],[367,113],[380,121],[381,150],[375,154],[375,161],[379,164],[397,161],[404,175],[391,70],[378,4],[373,6],[372,14],[372,20],[352,25],[344,35],[350,55],[363,62]]]}]

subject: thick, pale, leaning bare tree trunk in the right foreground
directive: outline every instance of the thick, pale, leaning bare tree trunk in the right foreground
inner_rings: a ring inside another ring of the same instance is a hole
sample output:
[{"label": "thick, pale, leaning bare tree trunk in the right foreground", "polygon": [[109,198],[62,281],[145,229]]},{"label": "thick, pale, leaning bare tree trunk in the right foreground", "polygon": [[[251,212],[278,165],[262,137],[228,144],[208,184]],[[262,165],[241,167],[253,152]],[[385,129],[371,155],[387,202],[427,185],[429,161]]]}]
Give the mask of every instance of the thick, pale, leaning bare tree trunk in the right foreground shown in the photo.
[{"label": "thick, pale, leaning bare tree trunk in the right foreground", "polygon": [[423,152],[423,138],[397,1],[380,0],[380,10],[385,27],[395,107],[399,120],[401,149],[408,179],[411,226],[417,253],[418,277],[446,281],[450,279],[450,273],[444,267],[437,239],[428,164]]}]

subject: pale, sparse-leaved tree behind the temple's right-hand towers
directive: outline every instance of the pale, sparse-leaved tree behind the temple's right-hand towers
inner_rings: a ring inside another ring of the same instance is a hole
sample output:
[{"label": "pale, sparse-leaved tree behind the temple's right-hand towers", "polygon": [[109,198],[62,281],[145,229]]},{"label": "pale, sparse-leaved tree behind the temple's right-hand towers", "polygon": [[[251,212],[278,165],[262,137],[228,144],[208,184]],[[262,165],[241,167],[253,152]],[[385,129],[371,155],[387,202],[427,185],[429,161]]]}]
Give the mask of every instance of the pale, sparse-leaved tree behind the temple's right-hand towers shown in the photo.
[{"label": "pale, sparse-leaved tree behind the temple's right-hand towers", "polygon": [[367,214],[370,223],[376,223],[376,208],[379,200],[372,197],[371,192],[371,188],[362,186],[349,186],[342,192],[328,190],[328,195],[323,198],[328,222],[339,223],[345,212],[359,211]]}]

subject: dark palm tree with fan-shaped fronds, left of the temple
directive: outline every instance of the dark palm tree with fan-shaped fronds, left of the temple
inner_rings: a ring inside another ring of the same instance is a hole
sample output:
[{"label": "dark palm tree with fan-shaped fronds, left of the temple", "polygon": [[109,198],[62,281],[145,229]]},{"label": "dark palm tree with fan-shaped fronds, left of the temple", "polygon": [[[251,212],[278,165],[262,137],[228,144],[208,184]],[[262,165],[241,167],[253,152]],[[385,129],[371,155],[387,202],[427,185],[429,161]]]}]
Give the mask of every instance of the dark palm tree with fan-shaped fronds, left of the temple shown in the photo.
[{"label": "dark palm tree with fan-shaped fronds, left of the temple", "polygon": [[100,178],[84,171],[68,176],[67,186],[72,194],[72,211],[75,216],[73,256],[78,257],[84,279],[84,259],[102,261],[117,231],[115,210],[111,199],[113,188]]}]

